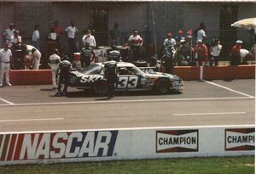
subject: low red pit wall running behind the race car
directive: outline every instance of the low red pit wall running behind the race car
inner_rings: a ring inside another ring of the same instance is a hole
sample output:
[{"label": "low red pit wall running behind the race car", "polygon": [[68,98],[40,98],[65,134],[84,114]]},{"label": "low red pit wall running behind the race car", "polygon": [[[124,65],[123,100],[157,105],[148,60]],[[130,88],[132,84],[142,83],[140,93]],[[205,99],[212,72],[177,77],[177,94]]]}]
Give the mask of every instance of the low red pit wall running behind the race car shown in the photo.
[{"label": "low red pit wall running behind the race car", "polygon": [[[194,80],[224,80],[224,79],[254,79],[256,65],[239,66],[176,66],[173,74],[185,81]],[[51,83],[50,70],[12,70],[10,82],[13,85],[45,85]]]}]

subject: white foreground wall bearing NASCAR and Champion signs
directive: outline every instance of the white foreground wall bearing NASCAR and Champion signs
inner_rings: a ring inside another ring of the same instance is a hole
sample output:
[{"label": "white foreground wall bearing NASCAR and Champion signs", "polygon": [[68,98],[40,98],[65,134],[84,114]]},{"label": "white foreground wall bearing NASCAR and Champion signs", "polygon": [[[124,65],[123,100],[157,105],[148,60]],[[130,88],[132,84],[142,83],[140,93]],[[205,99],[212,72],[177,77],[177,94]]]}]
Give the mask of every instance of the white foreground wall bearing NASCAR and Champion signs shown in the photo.
[{"label": "white foreground wall bearing NASCAR and Champion signs", "polygon": [[184,126],[0,133],[0,166],[253,155],[255,128]]}]

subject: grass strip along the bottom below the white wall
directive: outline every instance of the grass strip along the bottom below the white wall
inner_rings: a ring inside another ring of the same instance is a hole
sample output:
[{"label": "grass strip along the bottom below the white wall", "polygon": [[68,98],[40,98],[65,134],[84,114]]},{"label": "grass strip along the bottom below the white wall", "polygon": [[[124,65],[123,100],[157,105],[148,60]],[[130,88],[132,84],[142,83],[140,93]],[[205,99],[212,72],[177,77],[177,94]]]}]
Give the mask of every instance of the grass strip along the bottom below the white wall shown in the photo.
[{"label": "grass strip along the bottom below the white wall", "polygon": [[254,156],[1,166],[1,174],[253,174]]}]

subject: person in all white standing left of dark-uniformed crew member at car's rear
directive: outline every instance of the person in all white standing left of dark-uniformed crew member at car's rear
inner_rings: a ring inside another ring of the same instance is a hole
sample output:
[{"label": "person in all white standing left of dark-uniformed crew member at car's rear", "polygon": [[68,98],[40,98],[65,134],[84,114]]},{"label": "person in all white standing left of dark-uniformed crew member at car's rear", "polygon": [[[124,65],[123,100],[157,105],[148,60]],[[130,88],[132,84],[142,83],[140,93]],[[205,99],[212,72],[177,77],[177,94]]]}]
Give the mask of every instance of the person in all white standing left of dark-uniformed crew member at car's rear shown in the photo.
[{"label": "person in all white standing left of dark-uniformed crew member at car's rear", "polygon": [[51,78],[52,78],[53,89],[57,88],[56,73],[59,68],[59,64],[61,62],[61,57],[58,54],[59,54],[59,50],[55,49],[54,53],[49,56],[48,65],[51,69]]}]

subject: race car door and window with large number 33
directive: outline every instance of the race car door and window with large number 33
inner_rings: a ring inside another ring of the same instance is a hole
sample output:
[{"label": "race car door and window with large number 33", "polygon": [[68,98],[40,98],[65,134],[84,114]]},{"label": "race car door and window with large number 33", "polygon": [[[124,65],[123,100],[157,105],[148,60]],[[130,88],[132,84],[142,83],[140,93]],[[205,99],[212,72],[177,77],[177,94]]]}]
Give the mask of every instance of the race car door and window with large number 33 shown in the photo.
[{"label": "race car door and window with large number 33", "polygon": [[139,87],[141,76],[138,75],[137,70],[133,67],[119,67],[117,89],[132,90]]}]

